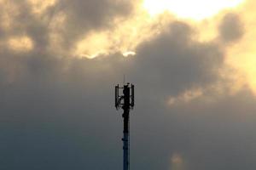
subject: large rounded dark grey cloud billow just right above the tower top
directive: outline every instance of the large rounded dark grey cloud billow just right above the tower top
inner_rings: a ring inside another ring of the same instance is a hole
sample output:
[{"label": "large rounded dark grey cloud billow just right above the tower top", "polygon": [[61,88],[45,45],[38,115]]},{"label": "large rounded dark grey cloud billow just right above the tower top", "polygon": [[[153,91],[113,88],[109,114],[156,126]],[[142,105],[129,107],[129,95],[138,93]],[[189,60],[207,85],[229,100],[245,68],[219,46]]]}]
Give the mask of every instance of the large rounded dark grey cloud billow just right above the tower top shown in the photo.
[{"label": "large rounded dark grey cloud billow just right above the tower top", "polygon": [[174,22],[169,27],[137,49],[135,63],[143,72],[137,81],[153,82],[148,86],[162,91],[162,97],[216,81],[224,59],[218,44],[193,41],[193,30],[184,23]]}]

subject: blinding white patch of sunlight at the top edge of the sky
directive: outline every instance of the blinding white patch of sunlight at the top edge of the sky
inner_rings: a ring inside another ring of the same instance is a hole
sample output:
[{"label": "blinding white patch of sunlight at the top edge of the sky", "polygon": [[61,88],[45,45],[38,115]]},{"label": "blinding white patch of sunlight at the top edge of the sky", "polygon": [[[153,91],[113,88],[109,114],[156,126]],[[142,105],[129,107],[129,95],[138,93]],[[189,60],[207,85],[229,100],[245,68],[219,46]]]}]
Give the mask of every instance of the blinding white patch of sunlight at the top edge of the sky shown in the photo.
[{"label": "blinding white patch of sunlight at the top edge of the sky", "polygon": [[217,14],[224,8],[234,8],[243,1],[244,0],[144,0],[143,7],[151,15],[169,11],[177,15],[177,17],[203,20]]}]

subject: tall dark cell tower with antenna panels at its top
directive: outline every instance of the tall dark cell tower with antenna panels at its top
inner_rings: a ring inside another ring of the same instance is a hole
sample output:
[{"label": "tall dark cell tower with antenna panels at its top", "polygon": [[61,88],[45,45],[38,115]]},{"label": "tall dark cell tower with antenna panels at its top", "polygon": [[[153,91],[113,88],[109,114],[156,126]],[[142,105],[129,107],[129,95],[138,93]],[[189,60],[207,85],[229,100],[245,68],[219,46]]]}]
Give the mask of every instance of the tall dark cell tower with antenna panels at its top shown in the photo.
[{"label": "tall dark cell tower with antenna panels at its top", "polygon": [[[123,95],[119,95],[119,90],[123,89]],[[134,85],[130,83],[124,84],[124,87],[119,88],[119,84],[115,86],[115,107],[117,110],[122,108],[124,110],[124,137],[123,137],[123,150],[124,150],[124,161],[123,169],[130,169],[130,122],[129,112],[134,107]]]}]

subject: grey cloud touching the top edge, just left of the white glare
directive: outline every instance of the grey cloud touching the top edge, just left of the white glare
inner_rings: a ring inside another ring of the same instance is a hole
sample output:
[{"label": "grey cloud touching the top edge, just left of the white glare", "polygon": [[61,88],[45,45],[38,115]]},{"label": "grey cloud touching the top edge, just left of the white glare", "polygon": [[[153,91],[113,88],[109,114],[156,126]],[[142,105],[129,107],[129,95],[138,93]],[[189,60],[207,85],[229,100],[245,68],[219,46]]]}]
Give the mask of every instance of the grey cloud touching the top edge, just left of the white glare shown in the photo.
[{"label": "grey cloud touching the top edge, just left of the white glare", "polygon": [[122,0],[64,0],[55,5],[55,14],[64,13],[67,16],[62,32],[67,45],[72,46],[74,40],[82,39],[88,31],[101,31],[113,26],[117,18],[131,14],[135,1]]}]

